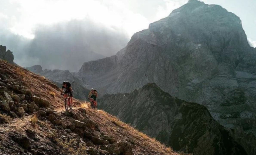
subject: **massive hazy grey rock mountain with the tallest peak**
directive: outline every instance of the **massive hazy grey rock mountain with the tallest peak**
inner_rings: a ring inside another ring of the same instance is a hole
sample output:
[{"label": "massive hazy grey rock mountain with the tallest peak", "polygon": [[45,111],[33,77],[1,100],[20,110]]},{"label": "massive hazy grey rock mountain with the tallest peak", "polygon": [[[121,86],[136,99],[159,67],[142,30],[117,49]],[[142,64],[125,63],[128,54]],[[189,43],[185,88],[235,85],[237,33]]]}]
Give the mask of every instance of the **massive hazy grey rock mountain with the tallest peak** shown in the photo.
[{"label": "massive hazy grey rock mountain with the tallest peak", "polygon": [[84,63],[78,75],[105,93],[155,82],[172,96],[204,104],[225,127],[247,121],[253,130],[255,60],[239,17],[190,0],[134,34],[115,56]]}]

